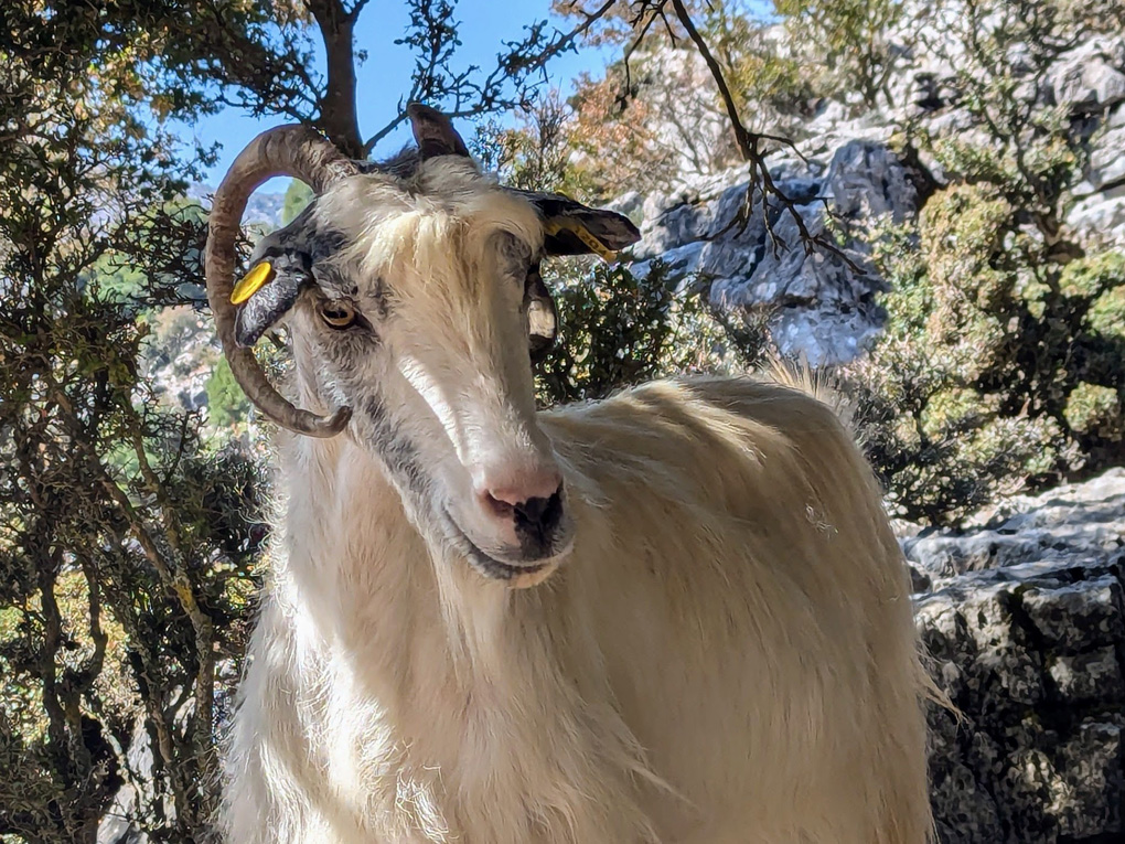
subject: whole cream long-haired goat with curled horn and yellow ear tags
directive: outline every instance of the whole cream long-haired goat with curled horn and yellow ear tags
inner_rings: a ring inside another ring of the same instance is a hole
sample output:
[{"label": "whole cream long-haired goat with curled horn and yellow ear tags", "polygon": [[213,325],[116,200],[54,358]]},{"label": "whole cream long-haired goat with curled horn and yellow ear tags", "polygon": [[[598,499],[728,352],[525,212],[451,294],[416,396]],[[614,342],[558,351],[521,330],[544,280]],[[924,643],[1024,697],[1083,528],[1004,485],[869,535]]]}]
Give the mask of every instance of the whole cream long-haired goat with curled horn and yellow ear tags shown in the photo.
[{"label": "whole cream long-haired goat with curled horn and yellow ear tags", "polygon": [[[927,841],[906,568],[836,415],[703,377],[537,413],[540,260],[639,234],[501,187],[448,118],[408,115],[390,164],[281,127],[215,195],[208,296],[287,496],[227,839]],[[233,285],[277,174],[317,197]],[[250,348],[279,323],[300,407]]]}]

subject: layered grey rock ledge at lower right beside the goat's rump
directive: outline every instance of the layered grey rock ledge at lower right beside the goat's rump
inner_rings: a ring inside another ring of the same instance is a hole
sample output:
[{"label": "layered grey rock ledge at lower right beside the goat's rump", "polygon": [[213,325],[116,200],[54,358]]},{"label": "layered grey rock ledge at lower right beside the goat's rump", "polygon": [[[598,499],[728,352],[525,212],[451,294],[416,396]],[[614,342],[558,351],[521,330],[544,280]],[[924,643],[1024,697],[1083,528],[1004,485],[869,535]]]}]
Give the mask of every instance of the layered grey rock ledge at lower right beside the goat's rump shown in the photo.
[{"label": "layered grey rock ledge at lower right beside the goat's rump", "polygon": [[944,844],[1125,839],[1125,470],[903,541]]}]

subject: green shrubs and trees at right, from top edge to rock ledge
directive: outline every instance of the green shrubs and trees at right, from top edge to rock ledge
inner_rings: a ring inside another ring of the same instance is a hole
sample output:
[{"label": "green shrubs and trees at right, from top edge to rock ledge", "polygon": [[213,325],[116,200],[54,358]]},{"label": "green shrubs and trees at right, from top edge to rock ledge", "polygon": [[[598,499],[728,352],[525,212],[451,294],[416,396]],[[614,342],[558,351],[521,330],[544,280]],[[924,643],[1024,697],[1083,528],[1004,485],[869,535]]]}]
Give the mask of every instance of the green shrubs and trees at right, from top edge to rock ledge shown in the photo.
[{"label": "green shrubs and trees at right, from top edge to rock ledge", "polygon": [[908,127],[951,185],[917,226],[879,233],[888,326],[850,376],[872,461],[910,519],[956,522],[1125,457],[1125,254],[1068,242],[1081,134],[1032,96],[1082,32],[1074,15],[1065,0],[966,0],[946,59],[975,132]]}]

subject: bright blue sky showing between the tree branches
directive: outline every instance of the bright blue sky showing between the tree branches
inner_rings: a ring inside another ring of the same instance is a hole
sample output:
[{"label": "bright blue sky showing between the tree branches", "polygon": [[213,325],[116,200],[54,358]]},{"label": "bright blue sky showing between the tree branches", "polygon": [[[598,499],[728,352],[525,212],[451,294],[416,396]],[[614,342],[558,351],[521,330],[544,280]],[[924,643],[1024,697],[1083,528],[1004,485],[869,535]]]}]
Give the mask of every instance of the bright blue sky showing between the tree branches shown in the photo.
[{"label": "bright blue sky showing between the tree branches", "polygon": [[[487,73],[495,66],[496,53],[503,50],[503,42],[520,38],[523,27],[534,20],[550,19],[549,5],[549,0],[460,0],[456,16],[461,21],[462,46],[454,56],[454,68],[475,64]],[[554,19],[551,23],[564,29],[569,21]],[[407,15],[402,0],[377,0],[360,15],[356,48],[368,53],[367,61],[357,69],[359,122],[364,136],[386,125],[396,113],[398,98],[408,90],[413,60],[407,47],[394,43],[405,33]],[[558,56],[548,68],[550,81],[567,89],[582,71],[596,72],[604,68],[608,57],[605,51],[588,48]],[[321,56],[317,60],[322,61]],[[218,163],[212,168],[207,179],[214,186],[246,142],[282,119],[267,117],[255,120],[240,109],[228,108],[192,126],[182,127],[180,133],[186,138],[195,136],[206,145],[214,142],[223,145]],[[408,140],[408,131],[400,127],[384,138],[375,155],[394,153]],[[261,189],[284,190],[285,182],[269,182]]]}]

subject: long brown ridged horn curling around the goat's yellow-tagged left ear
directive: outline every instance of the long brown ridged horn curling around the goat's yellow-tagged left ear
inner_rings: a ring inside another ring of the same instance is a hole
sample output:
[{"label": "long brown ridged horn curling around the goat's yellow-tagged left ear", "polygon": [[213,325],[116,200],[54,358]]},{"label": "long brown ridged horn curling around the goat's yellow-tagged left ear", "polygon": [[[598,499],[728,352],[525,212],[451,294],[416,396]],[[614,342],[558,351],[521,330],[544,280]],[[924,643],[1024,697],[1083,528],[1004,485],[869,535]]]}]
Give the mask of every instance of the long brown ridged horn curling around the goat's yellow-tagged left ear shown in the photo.
[{"label": "long brown ridged horn curling around the goat's yellow-tagged left ear", "polygon": [[234,242],[246,200],[254,189],[274,176],[291,176],[306,182],[316,194],[338,179],[359,172],[359,168],[331,142],[307,126],[278,126],[263,132],[238,153],[223,183],[215,191],[208,223],[204,267],[207,299],[218,327],[231,371],[238,386],[258,408],[277,424],[309,437],[333,437],[351,416],[350,407],[340,407],[327,416],[294,406],[269,383],[254,359],[253,350],[240,347],[234,339],[235,306],[231,304],[234,286]]}]

